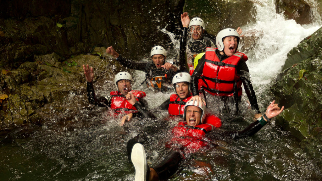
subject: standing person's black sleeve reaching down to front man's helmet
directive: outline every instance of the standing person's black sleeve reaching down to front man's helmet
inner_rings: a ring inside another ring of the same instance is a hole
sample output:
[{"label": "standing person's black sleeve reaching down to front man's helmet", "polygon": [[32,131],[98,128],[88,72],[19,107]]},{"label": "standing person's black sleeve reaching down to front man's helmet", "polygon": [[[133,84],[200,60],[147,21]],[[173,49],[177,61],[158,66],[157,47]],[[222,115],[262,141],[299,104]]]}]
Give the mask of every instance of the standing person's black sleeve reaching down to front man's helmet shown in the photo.
[{"label": "standing person's black sleeve reaching down to front man's helmet", "polygon": [[194,69],[194,73],[191,75],[191,79],[190,79],[191,87],[190,87],[190,89],[191,89],[191,92],[192,92],[192,96],[199,95],[198,81],[199,81],[200,76],[201,76],[201,74],[203,72],[203,69],[204,69],[205,58],[206,58],[206,55],[202,56],[199,59],[198,65]]}]

